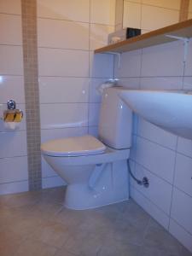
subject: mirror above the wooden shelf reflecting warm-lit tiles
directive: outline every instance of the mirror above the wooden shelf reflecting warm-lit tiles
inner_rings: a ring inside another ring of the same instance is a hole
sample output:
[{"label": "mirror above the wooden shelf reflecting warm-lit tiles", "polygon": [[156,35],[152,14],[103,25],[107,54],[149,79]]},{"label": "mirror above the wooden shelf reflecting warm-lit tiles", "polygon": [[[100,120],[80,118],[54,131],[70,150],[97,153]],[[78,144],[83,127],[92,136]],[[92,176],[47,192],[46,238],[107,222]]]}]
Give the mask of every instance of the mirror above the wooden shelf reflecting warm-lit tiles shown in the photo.
[{"label": "mirror above the wooden shelf reflecting warm-lit tiles", "polygon": [[141,28],[144,33],[177,23],[180,3],[181,0],[124,0],[124,27]]}]

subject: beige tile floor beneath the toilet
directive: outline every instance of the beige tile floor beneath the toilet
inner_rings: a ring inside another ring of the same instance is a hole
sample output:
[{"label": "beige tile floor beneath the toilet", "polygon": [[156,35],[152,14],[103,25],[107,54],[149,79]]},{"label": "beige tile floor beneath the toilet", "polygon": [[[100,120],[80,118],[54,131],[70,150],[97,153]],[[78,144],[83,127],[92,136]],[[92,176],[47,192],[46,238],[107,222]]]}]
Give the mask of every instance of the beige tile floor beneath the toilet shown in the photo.
[{"label": "beige tile floor beneath the toilet", "polygon": [[134,201],[62,207],[65,189],[0,196],[1,256],[189,256]]}]

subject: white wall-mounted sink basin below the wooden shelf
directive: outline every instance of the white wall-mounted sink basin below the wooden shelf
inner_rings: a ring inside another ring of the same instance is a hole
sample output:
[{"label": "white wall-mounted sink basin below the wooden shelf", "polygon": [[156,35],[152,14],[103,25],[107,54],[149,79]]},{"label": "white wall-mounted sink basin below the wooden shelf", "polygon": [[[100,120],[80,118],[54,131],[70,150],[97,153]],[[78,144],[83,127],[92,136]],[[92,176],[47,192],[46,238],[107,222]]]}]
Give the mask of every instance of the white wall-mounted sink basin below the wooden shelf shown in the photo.
[{"label": "white wall-mounted sink basin below the wooden shelf", "polygon": [[192,139],[191,92],[165,90],[122,90],[121,99],[148,122]]}]

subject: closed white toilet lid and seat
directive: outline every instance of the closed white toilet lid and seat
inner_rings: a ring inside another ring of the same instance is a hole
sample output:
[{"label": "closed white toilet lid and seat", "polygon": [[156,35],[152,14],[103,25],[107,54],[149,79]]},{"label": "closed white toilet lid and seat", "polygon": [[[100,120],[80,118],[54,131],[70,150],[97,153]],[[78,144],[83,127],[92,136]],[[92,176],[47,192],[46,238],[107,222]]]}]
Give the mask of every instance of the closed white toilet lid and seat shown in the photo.
[{"label": "closed white toilet lid and seat", "polygon": [[90,135],[52,140],[41,146],[44,154],[52,156],[101,154],[105,149],[104,144]]}]

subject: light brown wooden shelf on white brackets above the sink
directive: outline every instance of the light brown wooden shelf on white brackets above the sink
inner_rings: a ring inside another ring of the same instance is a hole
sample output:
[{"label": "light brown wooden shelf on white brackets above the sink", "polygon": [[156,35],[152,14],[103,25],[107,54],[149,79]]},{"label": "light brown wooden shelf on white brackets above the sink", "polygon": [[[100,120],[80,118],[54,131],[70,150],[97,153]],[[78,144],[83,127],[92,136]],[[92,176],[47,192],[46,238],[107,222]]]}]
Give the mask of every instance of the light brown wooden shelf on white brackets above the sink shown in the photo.
[{"label": "light brown wooden shelf on white brackets above the sink", "polygon": [[125,52],[134,49],[142,49],[157,44],[165,44],[177,40],[176,38],[168,38],[166,35],[177,37],[191,38],[192,37],[192,19],[178,22],[171,26],[166,26],[152,32],[145,33],[135,38],[129,38],[116,44],[96,49],[95,53],[107,52]]}]

